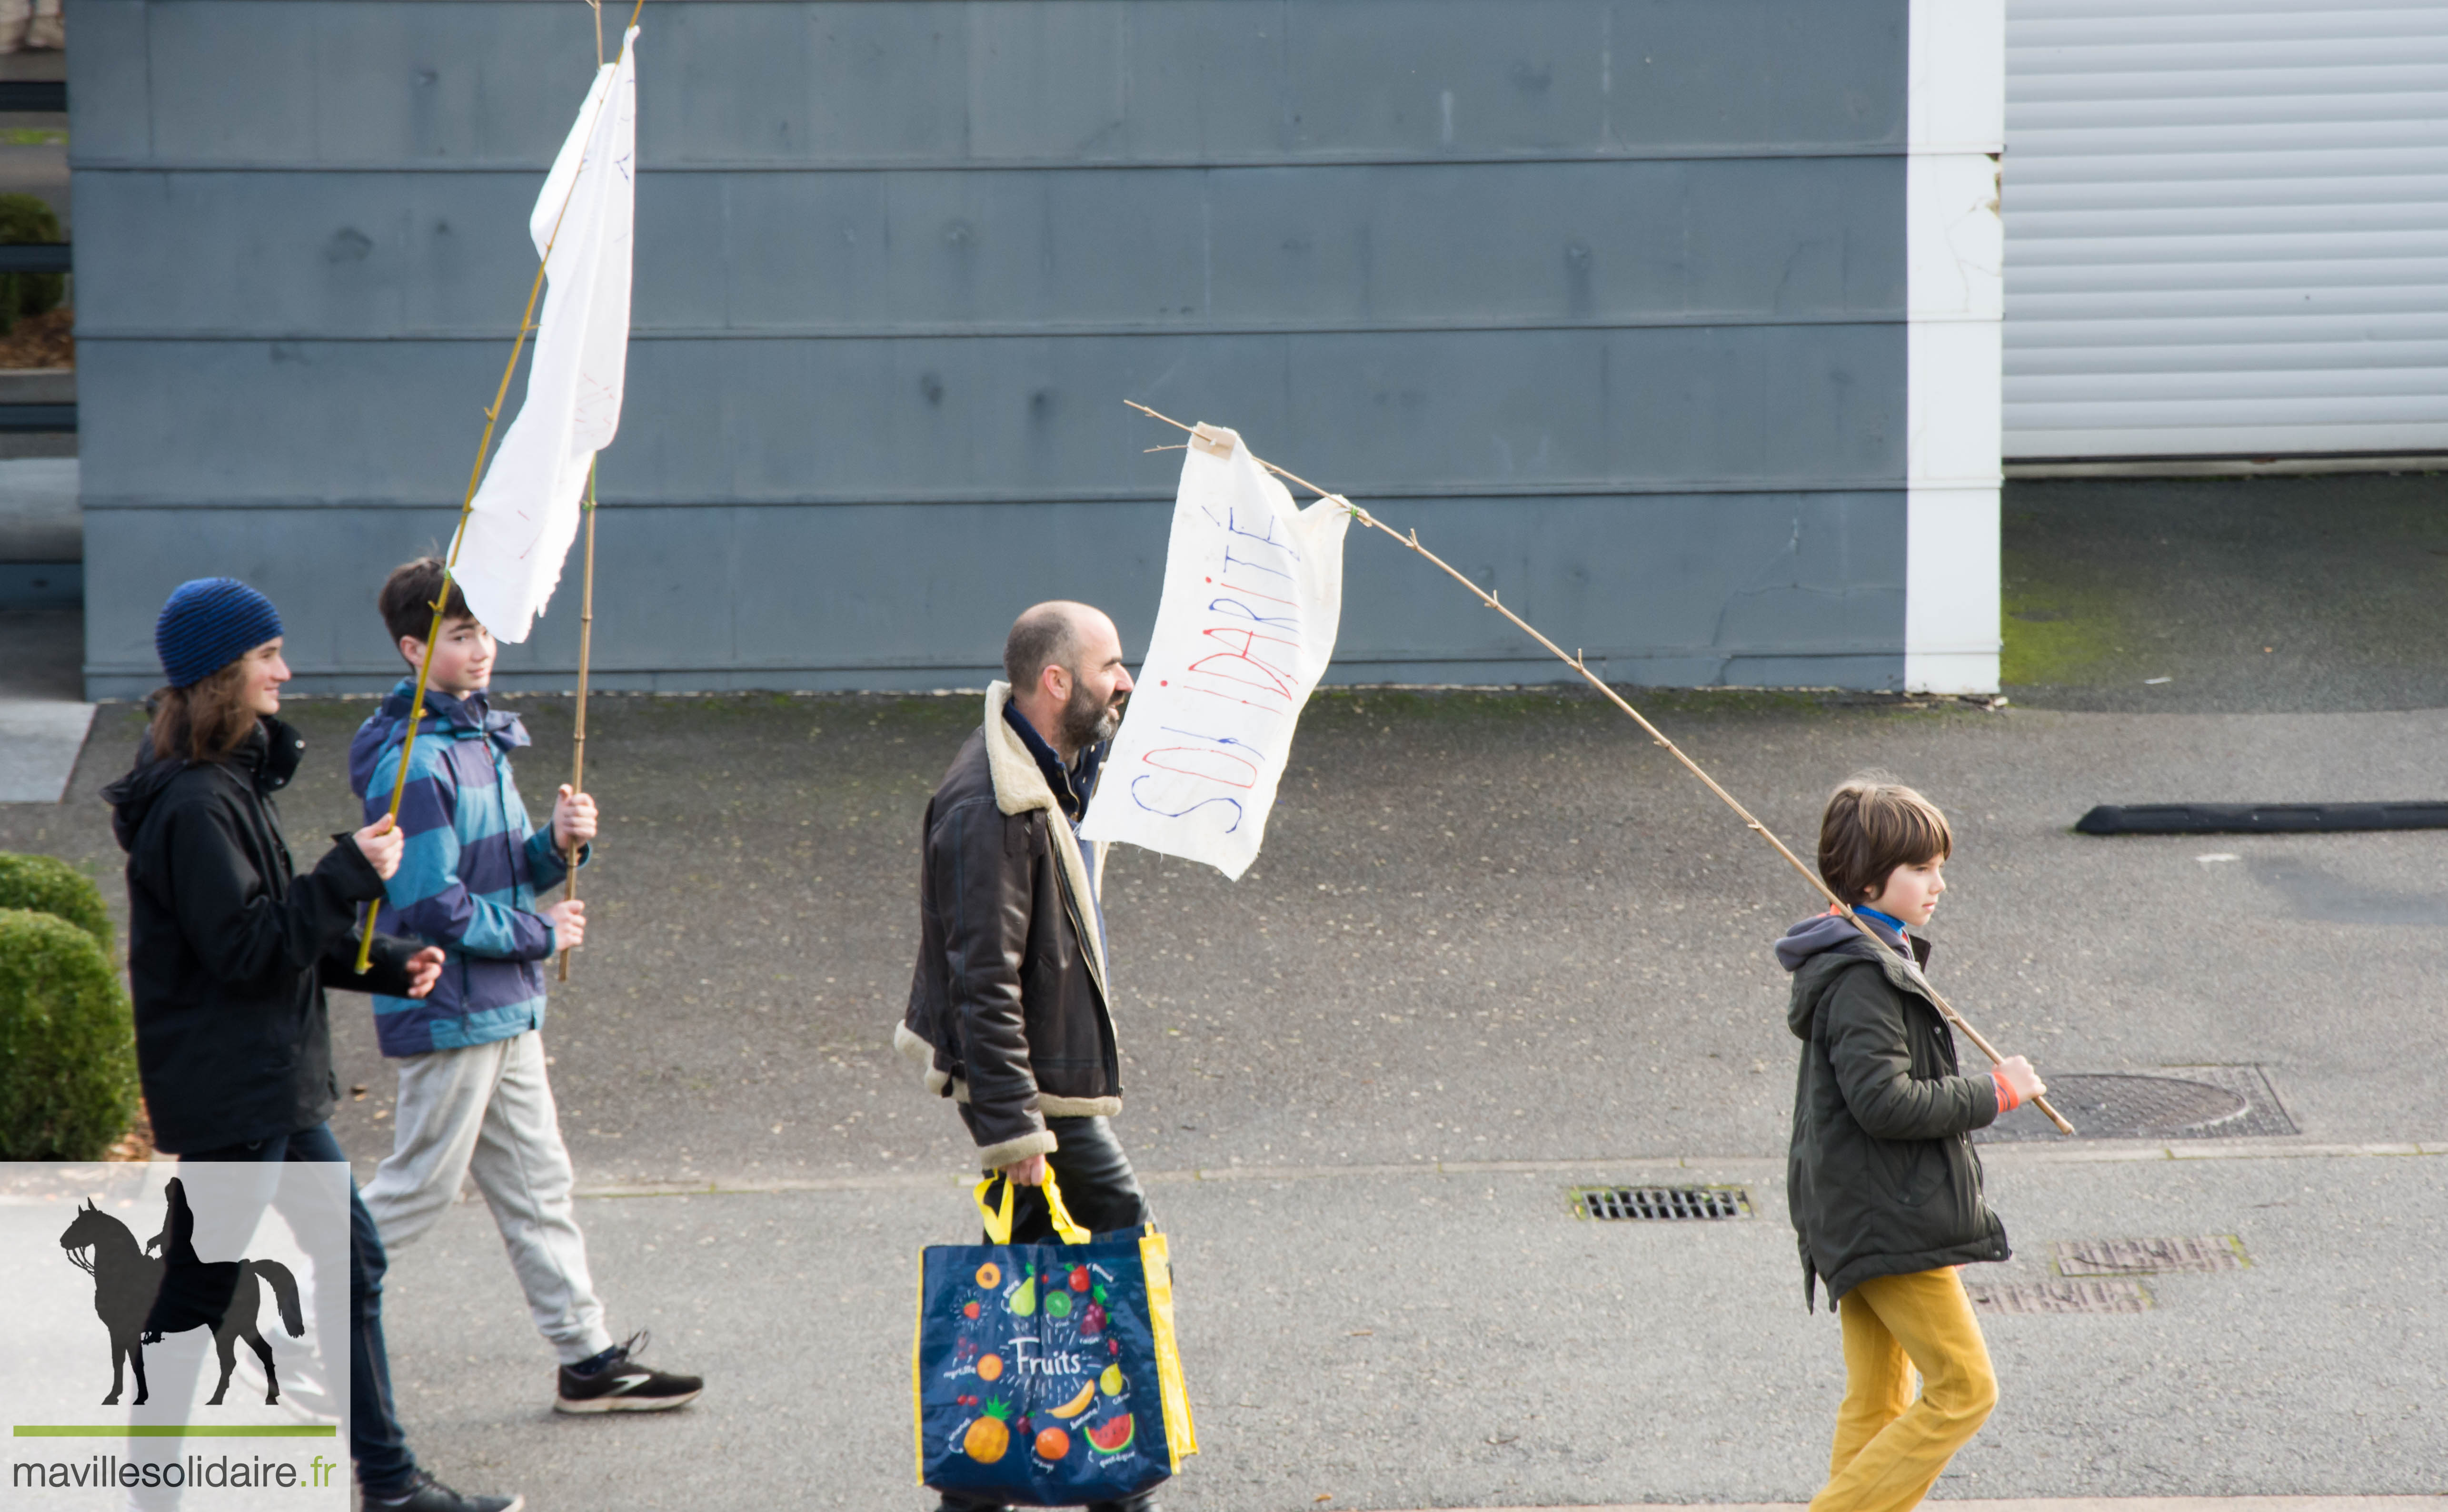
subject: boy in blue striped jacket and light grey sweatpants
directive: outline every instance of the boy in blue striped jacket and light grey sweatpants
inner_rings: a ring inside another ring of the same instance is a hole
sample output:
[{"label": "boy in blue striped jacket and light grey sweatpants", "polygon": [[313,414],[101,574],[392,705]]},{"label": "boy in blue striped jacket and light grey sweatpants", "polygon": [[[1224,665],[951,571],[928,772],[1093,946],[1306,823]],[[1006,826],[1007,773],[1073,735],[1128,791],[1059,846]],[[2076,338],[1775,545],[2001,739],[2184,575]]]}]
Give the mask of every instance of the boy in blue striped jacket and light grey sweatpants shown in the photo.
[{"label": "boy in blue striped jacket and light grey sweatpants", "polygon": [[[399,1064],[397,1143],[365,1187],[387,1248],[441,1218],[475,1174],[536,1329],[561,1353],[561,1412],[659,1412],[698,1397],[695,1375],[649,1370],[632,1355],[644,1336],[612,1343],[588,1275],[573,1211],[575,1174],[543,1077],[543,962],[585,939],[570,898],[536,908],[568,876],[568,851],[595,839],[595,800],[561,788],[553,822],[536,829],[509,776],[526,746],[517,714],[487,702],[492,631],[468,614],[436,558],[382,585],[382,624],[416,668],[448,587],[426,717],[399,802],[406,851],[389,878],[379,930],[438,944],[441,981],[424,998],[375,998],[375,1035]],[[367,815],[384,815],[399,778],[416,680],[401,678],[348,751],[348,776]],[[580,856],[583,861],[583,856]]]}]

